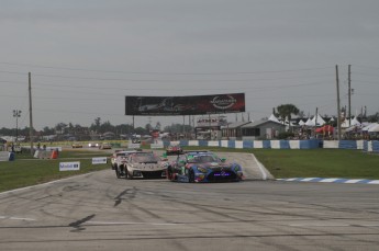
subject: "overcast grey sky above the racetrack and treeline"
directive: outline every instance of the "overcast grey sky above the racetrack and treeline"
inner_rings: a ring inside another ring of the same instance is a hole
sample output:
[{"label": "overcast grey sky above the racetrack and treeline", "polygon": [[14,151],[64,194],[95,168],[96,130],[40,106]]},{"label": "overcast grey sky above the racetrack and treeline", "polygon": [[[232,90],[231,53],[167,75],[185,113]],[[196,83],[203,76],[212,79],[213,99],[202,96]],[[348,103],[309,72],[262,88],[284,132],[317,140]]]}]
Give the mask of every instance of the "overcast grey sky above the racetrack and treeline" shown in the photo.
[{"label": "overcast grey sky above the racetrack and treeline", "polygon": [[[131,124],[125,95],[244,92],[245,119],[292,103],[306,115],[379,112],[377,0],[0,0],[0,128],[96,117]],[[241,119],[238,114],[238,119]],[[235,121],[235,115],[228,116]],[[136,126],[182,117],[136,117]]]}]

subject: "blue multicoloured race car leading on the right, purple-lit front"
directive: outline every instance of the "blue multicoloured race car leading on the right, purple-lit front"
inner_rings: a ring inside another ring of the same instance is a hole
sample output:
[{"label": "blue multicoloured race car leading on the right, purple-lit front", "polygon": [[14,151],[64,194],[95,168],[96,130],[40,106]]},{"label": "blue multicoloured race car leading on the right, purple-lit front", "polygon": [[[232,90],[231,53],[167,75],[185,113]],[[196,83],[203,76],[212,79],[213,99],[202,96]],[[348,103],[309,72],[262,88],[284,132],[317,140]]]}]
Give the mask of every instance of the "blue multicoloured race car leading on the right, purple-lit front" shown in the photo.
[{"label": "blue multicoloured race car leading on the right, purple-lit front", "polygon": [[167,179],[178,182],[242,181],[238,163],[228,163],[211,151],[188,151],[179,155],[167,168]]}]

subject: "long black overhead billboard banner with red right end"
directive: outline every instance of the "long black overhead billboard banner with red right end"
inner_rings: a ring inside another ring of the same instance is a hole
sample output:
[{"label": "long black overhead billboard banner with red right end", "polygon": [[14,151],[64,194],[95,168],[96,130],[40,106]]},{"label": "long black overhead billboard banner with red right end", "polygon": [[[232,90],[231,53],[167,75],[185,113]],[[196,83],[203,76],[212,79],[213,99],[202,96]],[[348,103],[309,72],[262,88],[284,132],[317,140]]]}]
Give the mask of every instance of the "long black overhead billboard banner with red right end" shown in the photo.
[{"label": "long black overhead billboard banner with red right end", "polygon": [[125,115],[200,115],[245,112],[245,93],[188,96],[125,96]]}]

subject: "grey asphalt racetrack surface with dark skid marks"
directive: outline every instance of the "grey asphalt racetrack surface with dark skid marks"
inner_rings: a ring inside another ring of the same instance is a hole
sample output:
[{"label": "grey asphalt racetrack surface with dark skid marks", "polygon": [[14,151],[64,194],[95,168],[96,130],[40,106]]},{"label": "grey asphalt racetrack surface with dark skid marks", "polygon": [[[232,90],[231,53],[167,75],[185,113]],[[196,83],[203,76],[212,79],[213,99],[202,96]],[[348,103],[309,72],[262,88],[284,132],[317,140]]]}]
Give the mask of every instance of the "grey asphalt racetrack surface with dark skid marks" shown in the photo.
[{"label": "grey asphalt racetrack surface with dark skid marks", "polygon": [[223,155],[246,181],[109,169],[1,193],[0,250],[378,250],[378,185],[264,181],[252,155]]}]

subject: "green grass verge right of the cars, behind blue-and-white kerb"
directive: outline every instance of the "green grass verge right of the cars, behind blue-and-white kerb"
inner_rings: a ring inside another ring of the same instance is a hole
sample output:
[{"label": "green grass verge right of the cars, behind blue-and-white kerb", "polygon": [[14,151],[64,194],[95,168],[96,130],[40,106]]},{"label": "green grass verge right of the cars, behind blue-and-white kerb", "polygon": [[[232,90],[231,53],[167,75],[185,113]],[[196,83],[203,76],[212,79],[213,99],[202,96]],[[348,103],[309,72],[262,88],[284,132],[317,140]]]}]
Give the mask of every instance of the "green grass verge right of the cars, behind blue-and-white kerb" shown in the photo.
[{"label": "green grass verge right of the cars, behind blue-and-white kerb", "polygon": [[[186,150],[204,149],[188,147]],[[213,151],[250,152],[276,178],[346,178],[379,180],[379,156],[349,149],[231,149]]]}]

